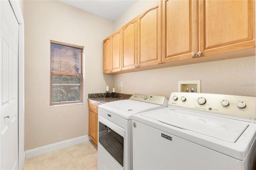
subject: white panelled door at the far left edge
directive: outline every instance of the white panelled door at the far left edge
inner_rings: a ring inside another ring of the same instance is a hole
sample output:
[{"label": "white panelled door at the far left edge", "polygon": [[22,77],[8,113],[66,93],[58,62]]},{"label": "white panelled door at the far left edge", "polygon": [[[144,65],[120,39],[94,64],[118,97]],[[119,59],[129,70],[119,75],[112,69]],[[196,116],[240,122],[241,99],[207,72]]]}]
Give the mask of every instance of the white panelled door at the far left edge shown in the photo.
[{"label": "white panelled door at the far left edge", "polygon": [[18,21],[8,0],[0,13],[0,169],[18,169]]}]

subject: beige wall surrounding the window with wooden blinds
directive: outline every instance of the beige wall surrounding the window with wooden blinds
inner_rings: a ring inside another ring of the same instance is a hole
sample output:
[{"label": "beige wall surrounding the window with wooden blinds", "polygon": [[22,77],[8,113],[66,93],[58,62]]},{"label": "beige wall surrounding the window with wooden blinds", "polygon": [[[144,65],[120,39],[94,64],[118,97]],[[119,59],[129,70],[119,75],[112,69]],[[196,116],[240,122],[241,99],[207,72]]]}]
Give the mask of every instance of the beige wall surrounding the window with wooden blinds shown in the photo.
[{"label": "beige wall surrounding the window with wooden blinds", "polygon": [[[25,150],[88,134],[88,93],[114,84],[102,74],[102,41],[113,22],[63,4],[24,1]],[[85,104],[50,107],[50,40],[83,45]]]}]

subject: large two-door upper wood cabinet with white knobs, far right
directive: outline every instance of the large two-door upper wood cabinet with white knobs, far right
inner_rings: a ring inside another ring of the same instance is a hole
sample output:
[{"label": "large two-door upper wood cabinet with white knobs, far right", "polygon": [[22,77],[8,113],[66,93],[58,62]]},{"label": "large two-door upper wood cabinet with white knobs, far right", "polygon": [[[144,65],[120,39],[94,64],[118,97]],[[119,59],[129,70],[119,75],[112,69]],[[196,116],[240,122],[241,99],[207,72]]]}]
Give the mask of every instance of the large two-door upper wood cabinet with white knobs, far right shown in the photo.
[{"label": "large two-door upper wood cabinet with white knobs, far right", "polygon": [[163,63],[253,49],[254,6],[254,0],[163,0]]}]

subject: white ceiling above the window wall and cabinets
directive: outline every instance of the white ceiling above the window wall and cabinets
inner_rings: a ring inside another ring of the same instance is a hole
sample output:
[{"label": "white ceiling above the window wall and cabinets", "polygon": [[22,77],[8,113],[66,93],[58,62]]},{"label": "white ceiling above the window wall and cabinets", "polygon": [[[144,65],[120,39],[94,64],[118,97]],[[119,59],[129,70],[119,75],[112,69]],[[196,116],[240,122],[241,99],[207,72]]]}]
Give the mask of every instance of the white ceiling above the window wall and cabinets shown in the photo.
[{"label": "white ceiling above the window wall and cabinets", "polygon": [[108,20],[116,20],[138,0],[59,0]]}]

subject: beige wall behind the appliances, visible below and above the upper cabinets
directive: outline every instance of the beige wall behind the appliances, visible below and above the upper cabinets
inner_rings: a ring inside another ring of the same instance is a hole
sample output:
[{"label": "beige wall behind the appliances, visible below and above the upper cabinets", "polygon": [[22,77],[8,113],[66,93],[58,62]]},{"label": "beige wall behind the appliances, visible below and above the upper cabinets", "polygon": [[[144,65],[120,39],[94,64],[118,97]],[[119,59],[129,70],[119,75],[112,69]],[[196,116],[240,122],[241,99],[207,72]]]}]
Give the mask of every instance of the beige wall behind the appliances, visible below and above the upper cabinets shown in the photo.
[{"label": "beige wall behind the appliances, visible below and above the upper cabinets", "polygon": [[[115,21],[114,29],[121,28],[153,3],[139,0]],[[255,56],[114,75],[114,86],[118,93],[161,95],[169,99],[171,92],[178,91],[178,81],[186,80],[200,80],[202,93],[255,96]]]}]

